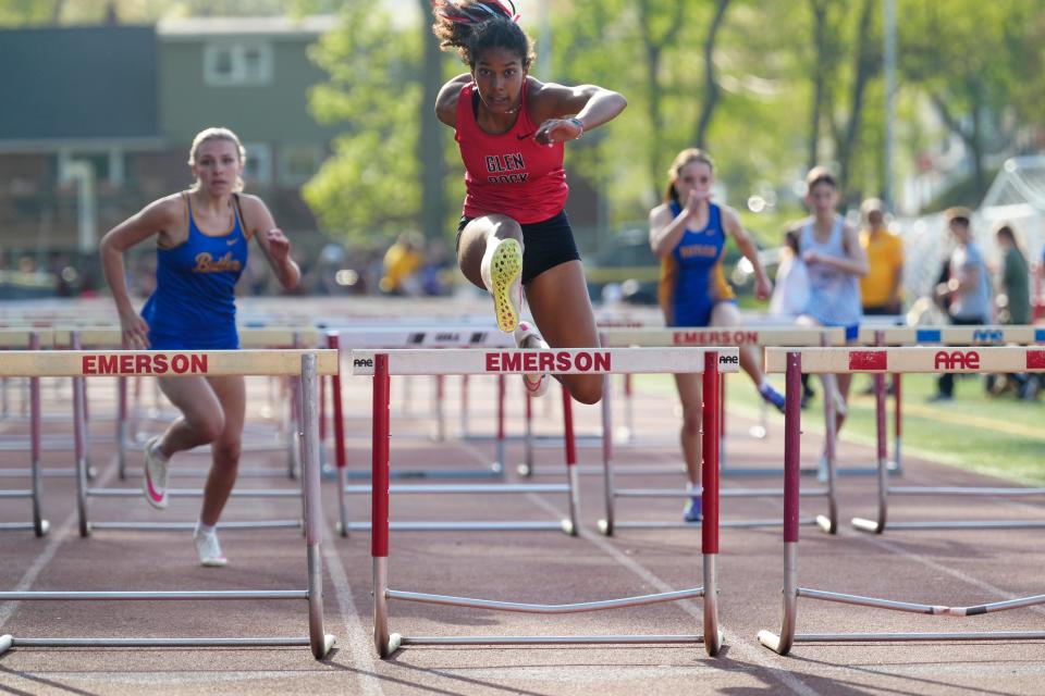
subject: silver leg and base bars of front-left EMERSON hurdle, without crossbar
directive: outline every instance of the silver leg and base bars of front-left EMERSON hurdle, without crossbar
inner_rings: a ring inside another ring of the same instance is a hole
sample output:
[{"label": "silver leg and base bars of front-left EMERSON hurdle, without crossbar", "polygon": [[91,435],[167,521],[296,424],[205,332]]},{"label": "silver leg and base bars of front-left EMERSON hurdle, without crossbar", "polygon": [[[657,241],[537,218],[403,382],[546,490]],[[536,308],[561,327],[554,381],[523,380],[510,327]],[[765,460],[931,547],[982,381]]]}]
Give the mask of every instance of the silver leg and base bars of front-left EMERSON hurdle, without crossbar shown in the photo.
[{"label": "silver leg and base bars of front-left EMERSON hurdle, without crossbar", "polygon": [[[257,600],[305,599],[308,601],[309,635],[306,638],[17,638],[0,636],[0,654],[16,647],[257,647],[308,646],[316,659],[325,657],[335,637],[323,632],[322,510],[319,498],[319,424],[317,422],[317,359],[314,353],[302,356],[302,385],[305,408],[305,505],[306,552],[308,559],[306,589],[283,591],[192,591],[192,592],[0,592],[0,601],[156,601],[156,600]],[[79,377],[82,381],[83,377]],[[81,389],[83,387],[81,386]],[[76,386],[74,383],[74,400]],[[83,398],[81,395],[79,398]],[[83,411],[77,414],[83,418]],[[83,475],[83,471],[81,471]]]}]

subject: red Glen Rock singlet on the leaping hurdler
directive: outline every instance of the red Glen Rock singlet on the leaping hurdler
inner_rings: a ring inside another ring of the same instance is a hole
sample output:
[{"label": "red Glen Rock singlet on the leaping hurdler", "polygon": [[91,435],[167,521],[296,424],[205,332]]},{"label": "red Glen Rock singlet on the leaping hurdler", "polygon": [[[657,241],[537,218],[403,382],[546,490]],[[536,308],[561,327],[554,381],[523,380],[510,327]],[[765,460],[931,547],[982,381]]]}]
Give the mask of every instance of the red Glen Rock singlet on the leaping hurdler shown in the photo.
[{"label": "red Glen Rock singlet on the leaping hurdler", "polygon": [[476,123],[475,84],[460,89],[454,139],[465,163],[466,217],[497,213],[528,225],[554,217],[566,206],[563,144],[548,147],[533,139],[537,125],[527,111],[526,87],[524,82],[515,125],[501,135],[484,133]]}]

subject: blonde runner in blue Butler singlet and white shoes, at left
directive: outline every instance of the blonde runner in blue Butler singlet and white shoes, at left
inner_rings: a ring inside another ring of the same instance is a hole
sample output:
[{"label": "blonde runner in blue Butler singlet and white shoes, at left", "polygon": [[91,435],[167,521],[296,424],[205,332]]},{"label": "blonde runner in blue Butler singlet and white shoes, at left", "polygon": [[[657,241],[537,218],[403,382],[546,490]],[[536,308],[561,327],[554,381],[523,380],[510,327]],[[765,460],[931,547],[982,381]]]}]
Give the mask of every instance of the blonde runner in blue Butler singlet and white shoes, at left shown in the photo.
[{"label": "blonde runner in blue Butler singlet and white shoes, at left", "polygon": [[[156,350],[235,349],[234,288],[247,263],[251,238],[286,289],[297,286],[300,271],[291,258],[291,243],[256,196],[241,196],[243,146],[226,128],[196,136],[188,164],[196,184],[188,191],[161,198],[113,227],[101,240],[106,281],[120,313],[126,348]],[[123,252],[157,237],[157,286],[137,314],[124,277]],[[194,542],[204,566],[224,566],[214,526],[236,481],[246,411],[243,377],[157,377],[179,408],[179,418],[159,437],[146,443],[142,487],[156,508],[168,502],[168,462],[180,451],[210,444],[213,464]]]}]

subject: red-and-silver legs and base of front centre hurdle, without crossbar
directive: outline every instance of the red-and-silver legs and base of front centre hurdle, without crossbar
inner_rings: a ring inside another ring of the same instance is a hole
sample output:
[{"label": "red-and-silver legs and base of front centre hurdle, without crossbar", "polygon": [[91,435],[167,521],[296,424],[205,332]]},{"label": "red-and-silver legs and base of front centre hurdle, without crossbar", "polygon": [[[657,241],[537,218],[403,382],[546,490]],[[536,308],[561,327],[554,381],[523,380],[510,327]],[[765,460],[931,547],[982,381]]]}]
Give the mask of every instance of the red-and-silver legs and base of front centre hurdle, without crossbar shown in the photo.
[{"label": "red-and-silver legs and base of front centre hurdle, without crossbar", "polygon": [[[371,557],[373,562],[373,638],[374,647],[381,658],[388,658],[399,647],[407,645],[608,645],[608,644],[688,644],[704,643],[709,655],[716,655],[722,645],[722,632],[717,624],[717,563],[718,551],[717,497],[716,488],[709,489],[712,514],[708,530],[702,537],[703,569],[705,584],[701,587],[668,593],[625,597],[601,601],[577,602],[568,605],[537,605],[513,601],[494,601],[468,597],[452,597],[416,592],[390,589],[388,585],[388,356],[377,355],[374,360],[374,433],[373,433],[373,518],[374,534],[371,537]],[[704,373],[718,380],[718,353],[705,353]],[[712,390],[714,390],[712,388]],[[717,395],[716,395],[717,396]],[[568,398],[568,397],[567,397]],[[378,401],[382,400],[382,406]],[[717,408],[717,403],[714,408]],[[717,451],[717,448],[714,448]],[[717,462],[715,462],[717,463]],[[717,481],[717,467],[709,467],[713,473],[705,473],[705,483],[714,485]],[[709,580],[710,579],[710,580]],[[711,583],[709,585],[709,582]],[[402,636],[392,633],[389,627],[389,599],[434,604],[441,606],[469,607],[476,609],[513,611],[521,613],[563,614],[623,607],[636,607],[665,601],[676,601],[692,597],[704,597],[704,635],[580,635],[580,636]]]}]

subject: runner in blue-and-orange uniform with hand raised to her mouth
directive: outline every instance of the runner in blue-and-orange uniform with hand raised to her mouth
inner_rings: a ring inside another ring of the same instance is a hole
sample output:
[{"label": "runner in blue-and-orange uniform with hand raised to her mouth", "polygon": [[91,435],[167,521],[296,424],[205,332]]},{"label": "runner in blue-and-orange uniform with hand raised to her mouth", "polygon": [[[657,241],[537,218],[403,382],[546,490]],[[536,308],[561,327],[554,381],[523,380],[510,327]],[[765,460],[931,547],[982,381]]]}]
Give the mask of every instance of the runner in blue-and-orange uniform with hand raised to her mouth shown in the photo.
[{"label": "runner in blue-and-orange uniform with hand raised to her mouth", "polygon": [[[661,259],[660,301],[668,326],[736,326],[740,323],[733,290],[722,269],[726,234],[754,268],[755,297],[769,299],[772,284],[759,262],[754,241],[737,213],[711,202],[714,162],[703,151],[683,150],[668,171],[664,203],[650,212],[650,246]],[[740,366],[759,387],[762,398],[784,409],[784,396],[766,381],[753,347],[740,348]],[[683,401],[680,439],[686,457],[690,498],[687,522],[701,519],[700,375],[677,374]]]}]

